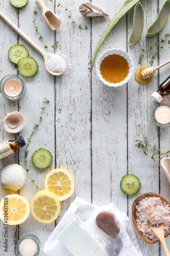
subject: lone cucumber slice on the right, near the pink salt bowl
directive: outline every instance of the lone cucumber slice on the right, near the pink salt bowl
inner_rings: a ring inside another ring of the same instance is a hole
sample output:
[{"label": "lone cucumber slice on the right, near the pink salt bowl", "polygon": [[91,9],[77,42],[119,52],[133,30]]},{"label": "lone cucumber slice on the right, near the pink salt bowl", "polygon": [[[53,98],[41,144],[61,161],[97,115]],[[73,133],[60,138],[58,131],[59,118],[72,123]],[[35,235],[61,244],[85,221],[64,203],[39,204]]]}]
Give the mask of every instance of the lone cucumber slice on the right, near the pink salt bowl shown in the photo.
[{"label": "lone cucumber slice on the right, near the pink salt bowl", "polygon": [[127,195],[135,195],[140,189],[140,180],[134,174],[127,174],[122,177],[120,188]]}]

